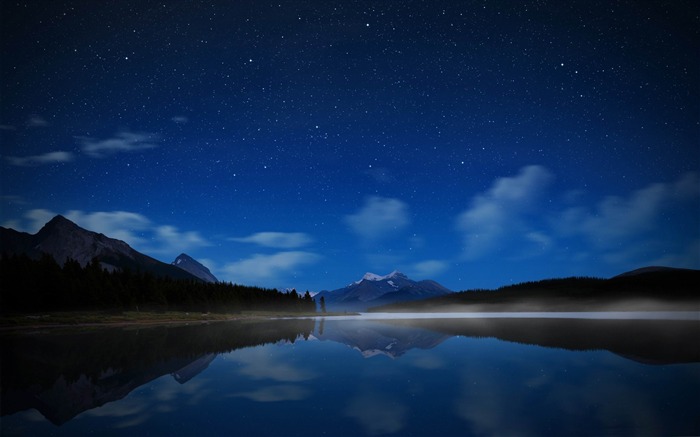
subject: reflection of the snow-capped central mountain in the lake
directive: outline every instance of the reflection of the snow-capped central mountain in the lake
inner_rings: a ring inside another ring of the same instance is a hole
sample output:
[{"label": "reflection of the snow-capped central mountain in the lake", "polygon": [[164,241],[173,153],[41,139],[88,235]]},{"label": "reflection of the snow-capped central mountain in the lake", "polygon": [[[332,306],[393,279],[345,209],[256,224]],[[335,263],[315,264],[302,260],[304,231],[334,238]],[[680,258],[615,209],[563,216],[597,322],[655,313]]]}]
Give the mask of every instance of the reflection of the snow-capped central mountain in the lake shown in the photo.
[{"label": "reflection of the snow-capped central mountain in the lake", "polygon": [[361,320],[322,321],[314,335],[358,350],[365,358],[386,355],[398,358],[411,349],[432,349],[450,335],[421,328],[391,326]]}]

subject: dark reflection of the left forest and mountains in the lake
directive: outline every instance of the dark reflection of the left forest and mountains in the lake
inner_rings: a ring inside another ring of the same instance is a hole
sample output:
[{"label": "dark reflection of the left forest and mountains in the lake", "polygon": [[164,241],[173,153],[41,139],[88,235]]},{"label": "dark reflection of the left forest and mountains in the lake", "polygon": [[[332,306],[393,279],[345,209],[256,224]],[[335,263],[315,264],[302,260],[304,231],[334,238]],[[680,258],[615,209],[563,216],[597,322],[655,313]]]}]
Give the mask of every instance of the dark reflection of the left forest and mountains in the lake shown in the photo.
[{"label": "dark reflection of the left forest and mountains in the lake", "polygon": [[312,320],[3,334],[0,415],[35,408],[56,425],[171,374],[181,384],[218,353],[308,336]]}]

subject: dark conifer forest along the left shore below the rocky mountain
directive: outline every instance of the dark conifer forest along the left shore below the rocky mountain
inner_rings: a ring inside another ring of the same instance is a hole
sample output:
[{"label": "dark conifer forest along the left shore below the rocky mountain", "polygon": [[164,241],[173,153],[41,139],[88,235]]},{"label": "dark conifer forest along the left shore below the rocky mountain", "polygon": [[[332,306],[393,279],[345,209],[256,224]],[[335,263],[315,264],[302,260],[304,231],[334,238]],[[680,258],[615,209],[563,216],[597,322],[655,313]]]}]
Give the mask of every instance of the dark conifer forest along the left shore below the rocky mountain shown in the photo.
[{"label": "dark conifer forest along the left shore below the rocky mountain", "polygon": [[59,265],[50,255],[0,257],[0,311],[174,310],[235,313],[248,310],[315,312],[307,291],[281,292],[227,282],[173,279],[129,269],[108,271],[93,260]]}]

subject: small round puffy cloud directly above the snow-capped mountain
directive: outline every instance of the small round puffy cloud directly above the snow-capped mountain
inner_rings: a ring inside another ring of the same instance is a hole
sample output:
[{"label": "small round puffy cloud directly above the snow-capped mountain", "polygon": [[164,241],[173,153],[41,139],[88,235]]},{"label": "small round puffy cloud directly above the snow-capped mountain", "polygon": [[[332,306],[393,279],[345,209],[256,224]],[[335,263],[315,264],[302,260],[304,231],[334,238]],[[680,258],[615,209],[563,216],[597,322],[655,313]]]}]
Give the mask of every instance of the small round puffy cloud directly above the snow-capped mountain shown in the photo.
[{"label": "small round puffy cloud directly above the snow-capped mountain", "polygon": [[372,196],[357,213],[345,216],[345,223],[361,238],[379,240],[408,226],[408,205],[399,199]]}]

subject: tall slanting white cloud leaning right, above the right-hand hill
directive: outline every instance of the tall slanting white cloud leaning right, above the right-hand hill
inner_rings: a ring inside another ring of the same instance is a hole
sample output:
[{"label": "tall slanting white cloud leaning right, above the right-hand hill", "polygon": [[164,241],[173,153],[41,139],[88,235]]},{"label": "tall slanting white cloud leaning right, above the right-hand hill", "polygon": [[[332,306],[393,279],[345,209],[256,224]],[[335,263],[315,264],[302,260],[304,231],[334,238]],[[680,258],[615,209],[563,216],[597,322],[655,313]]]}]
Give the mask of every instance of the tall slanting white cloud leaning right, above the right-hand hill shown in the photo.
[{"label": "tall slanting white cloud leaning right, above the right-hand hill", "polygon": [[469,209],[457,218],[464,257],[472,260],[490,253],[516,229],[522,230],[524,216],[533,210],[551,179],[546,168],[531,165],[516,176],[497,179],[488,191],[474,197]]}]

